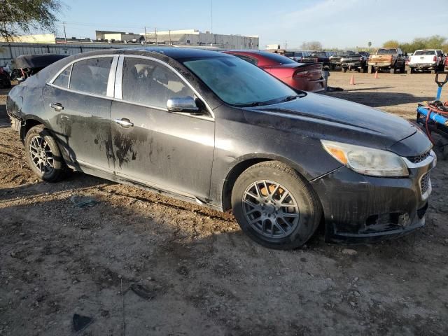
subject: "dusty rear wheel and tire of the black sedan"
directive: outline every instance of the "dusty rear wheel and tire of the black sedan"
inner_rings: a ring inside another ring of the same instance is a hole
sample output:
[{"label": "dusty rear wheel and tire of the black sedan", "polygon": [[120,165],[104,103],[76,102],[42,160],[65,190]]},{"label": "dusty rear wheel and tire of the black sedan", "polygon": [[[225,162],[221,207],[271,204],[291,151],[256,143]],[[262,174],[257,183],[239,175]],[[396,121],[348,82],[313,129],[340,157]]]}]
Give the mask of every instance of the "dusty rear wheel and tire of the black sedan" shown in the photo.
[{"label": "dusty rear wheel and tire of the black sedan", "polygon": [[[39,139],[43,139],[44,142],[42,142],[43,146],[41,146],[41,149],[38,149],[38,151],[45,152],[45,155],[47,155],[45,160],[48,165],[41,162],[41,159],[36,156],[37,151],[35,151],[34,148],[38,147],[35,145],[38,144]],[[33,146],[31,146],[31,144],[33,144]],[[45,148],[49,148],[49,150],[45,151]],[[59,151],[55,139],[48,130],[45,130],[43,125],[31,127],[27,132],[27,135],[25,136],[25,155],[27,157],[29,168],[31,168],[39,179],[47,182],[57,182],[64,178],[66,165],[62,158],[61,151]],[[50,158],[52,158],[52,160],[50,160]],[[36,160],[41,162],[41,164],[36,163]],[[49,162],[52,167],[50,167]]]}]

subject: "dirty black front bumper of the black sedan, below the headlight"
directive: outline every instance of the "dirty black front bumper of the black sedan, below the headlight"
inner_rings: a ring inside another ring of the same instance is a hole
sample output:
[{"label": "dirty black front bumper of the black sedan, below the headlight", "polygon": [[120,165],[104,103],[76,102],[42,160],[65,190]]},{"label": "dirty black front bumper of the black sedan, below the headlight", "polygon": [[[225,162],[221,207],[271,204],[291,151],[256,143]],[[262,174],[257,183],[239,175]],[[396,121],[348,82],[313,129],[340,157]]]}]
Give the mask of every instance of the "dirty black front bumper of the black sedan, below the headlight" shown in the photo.
[{"label": "dirty black front bumper of the black sedan, below the headlight", "polygon": [[323,207],[325,240],[366,243],[422,228],[431,192],[425,176],[433,167],[435,156],[429,164],[409,168],[408,178],[364,176],[341,167],[312,181]]}]

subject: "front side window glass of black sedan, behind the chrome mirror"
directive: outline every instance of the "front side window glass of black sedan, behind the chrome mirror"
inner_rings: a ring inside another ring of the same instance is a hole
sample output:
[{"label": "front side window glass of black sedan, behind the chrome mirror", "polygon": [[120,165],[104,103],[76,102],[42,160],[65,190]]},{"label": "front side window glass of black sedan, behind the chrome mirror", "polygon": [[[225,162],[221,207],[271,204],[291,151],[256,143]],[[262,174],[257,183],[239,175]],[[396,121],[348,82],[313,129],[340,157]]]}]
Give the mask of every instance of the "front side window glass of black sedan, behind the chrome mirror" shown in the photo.
[{"label": "front side window glass of black sedan, behind the chrome mirror", "polygon": [[176,73],[150,59],[125,57],[122,85],[123,100],[160,109],[167,108],[168,99],[194,97]]}]

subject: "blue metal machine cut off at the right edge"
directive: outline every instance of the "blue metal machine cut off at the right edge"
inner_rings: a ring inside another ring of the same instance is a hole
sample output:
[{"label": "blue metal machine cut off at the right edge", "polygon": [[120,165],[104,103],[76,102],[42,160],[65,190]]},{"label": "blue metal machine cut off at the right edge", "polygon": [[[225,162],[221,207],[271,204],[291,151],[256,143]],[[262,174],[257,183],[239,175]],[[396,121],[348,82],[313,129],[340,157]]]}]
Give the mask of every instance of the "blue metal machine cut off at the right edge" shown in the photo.
[{"label": "blue metal machine cut off at the right edge", "polygon": [[[439,75],[444,75],[443,80],[439,80]],[[433,102],[423,102],[417,107],[416,122],[422,126],[423,130],[430,136],[432,132],[440,134],[445,139],[448,139],[448,105],[440,102],[440,95],[442,94],[442,87],[448,82],[448,72],[438,72],[435,75],[435,83],[437,83],[437,96]],[[434,141],[433,141],[434,143]],[[443,158],[448,159],[448,143],[441,143],[443,147]]]}]

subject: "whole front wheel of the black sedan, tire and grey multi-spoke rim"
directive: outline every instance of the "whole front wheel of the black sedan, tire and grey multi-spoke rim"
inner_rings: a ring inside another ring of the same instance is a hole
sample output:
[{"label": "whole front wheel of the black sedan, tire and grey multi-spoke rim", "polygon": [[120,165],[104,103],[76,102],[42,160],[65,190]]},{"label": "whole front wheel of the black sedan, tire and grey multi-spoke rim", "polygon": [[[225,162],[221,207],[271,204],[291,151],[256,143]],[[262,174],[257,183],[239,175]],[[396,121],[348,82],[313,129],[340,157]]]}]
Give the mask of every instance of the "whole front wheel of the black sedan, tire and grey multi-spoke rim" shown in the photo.
[{"label": "whole front wheel of the black sedan, tire and grey multi-spoke rim", "polygon": [[232,190],[232,211],[241,229],[262,246],[297,248],[314,234],[321,204],[309,183],[278,161],[244,171]]}]

